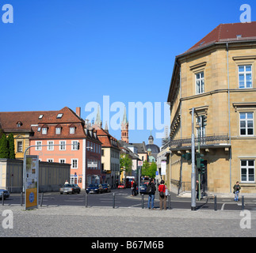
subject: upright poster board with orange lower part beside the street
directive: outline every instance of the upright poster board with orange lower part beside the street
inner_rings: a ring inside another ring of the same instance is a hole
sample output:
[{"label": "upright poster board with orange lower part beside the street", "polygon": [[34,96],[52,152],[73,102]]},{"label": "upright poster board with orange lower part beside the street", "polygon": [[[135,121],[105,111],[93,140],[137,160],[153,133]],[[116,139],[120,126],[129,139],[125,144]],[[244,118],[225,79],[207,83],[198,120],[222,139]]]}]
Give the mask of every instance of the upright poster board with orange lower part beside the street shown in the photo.
[{"label": "upright poster board with orange lower part beside the street", "polygon": [[25,210],[38,207],[38,156],[25,158]]}]

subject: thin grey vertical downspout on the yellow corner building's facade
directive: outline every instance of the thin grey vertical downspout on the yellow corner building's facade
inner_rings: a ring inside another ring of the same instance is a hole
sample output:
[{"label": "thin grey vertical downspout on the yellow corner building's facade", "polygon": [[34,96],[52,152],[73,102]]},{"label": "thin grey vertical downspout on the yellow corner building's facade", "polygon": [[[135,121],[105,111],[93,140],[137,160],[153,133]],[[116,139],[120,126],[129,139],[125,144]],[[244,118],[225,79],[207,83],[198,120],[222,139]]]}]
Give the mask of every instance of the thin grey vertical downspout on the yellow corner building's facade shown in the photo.
[{"label": "thin grey vertical downspout on the yellow corner building's facade", "polygon": [[228,43],[226,43],[226,50],[227,50],[227,106],[228,106],[228,136],[229,136],[229,191],[231,191],[231,159],[232,159],[232,154],[231,154],[231,111],[230,111],[230,89],[229,89],[229,65],[228,65]]}]

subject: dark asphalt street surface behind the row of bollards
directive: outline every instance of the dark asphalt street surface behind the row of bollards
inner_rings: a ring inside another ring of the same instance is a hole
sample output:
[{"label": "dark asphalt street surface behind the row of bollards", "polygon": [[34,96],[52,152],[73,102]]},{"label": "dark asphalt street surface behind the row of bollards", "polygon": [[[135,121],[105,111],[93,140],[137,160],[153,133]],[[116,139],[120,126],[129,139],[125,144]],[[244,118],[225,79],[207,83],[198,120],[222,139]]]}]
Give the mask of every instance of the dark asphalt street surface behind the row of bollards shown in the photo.
[{"label": "dark asphalt street surface behind the row of bollards", "polygon": [[[131,196],[131,189],[113,189],[109,193],[87,194],[88,207],[113,207],[113,194],[115,194],[115,208],[142,208],[142,195]],[[41,200],[39,194],[39,205]],[[256,197],[256,196],[255,196]],[[148,195],[144,195],[144,208],[147,208]],[[242,210],[242,194],[240,201],[234,202],[233,198],[217,197],[217,210]],[[59,192],[44,193],[43,206],[85,206],[85,191],[80,194],[59,194]],[[21,205],[21,194],[10,194],[5,200],[5,206]],[[1,201],[0,201],[1,205]],[[167,202],[168,207],[168,202]],[[155,195],[155,208],[159,209],[159,194]],[[179,197],[177,194],[170,194],[170,208],[191,209],[191,198]],[[256,210],[256,198],[245,197],[245,209]],[[197,200],[197,210],[214,210],[214,198],[204,197]]]}]

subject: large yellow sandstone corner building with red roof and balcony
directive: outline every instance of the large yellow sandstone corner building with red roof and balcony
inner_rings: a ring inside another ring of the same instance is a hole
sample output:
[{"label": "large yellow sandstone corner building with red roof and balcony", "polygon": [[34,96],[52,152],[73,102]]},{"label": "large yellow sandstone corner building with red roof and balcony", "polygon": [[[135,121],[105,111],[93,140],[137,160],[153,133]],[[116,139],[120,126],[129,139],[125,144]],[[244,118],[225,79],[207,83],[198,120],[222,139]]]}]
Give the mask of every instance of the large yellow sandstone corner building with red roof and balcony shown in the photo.
[{"label": "large yellow sandstone corner building with red roof and balcony", "polygon": [[192,164],[185,154],[191,153],[193,131],[195,148],[199,142],[204,155],[204,192],[231,193],[239,181],[241,192],[256,193],[255,61],[256,22],[219,25],[176,56],[166,145],[171,151],[166,169],[172,191],[190,191]]}]

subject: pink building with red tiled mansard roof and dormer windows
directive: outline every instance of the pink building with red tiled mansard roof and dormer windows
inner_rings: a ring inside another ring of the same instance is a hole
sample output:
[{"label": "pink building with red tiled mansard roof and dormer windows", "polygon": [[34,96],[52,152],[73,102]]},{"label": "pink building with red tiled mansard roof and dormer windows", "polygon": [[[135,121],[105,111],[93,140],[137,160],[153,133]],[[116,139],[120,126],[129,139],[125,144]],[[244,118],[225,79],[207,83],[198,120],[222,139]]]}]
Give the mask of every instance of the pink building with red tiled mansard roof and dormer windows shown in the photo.
[{"label": "pink building with red tiled mansard roof and dormer windows", "polygon": [[36,145],[30,154],[38,155],[41,161],[71,164],[71,177],[67,180],[85,189],[89,183],[102,182],[101,142],[96,130],[85,126],[80,111],[77,108],[75,113],[65,107],[51,115],[41,112],[29,139],[30,145]]}]

